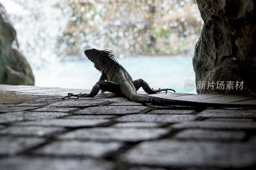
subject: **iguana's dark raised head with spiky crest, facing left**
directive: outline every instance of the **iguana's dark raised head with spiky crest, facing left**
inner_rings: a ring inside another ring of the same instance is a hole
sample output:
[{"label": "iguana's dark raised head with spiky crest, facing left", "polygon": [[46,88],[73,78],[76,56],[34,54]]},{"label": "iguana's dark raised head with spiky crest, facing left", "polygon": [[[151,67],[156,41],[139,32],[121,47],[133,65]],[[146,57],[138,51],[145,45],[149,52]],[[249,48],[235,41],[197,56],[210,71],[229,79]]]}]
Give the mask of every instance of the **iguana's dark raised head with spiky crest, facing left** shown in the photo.
[{"label": "iguana's dark raised head with spiky crest, facing left", "polygon": [[85,50],[84,54],[94,63],[94,67],[101,71],[102,67],[108,65],[109,62],[114,61],[114,54],[111,54],[111,52],[112,51],[90,49]]}]

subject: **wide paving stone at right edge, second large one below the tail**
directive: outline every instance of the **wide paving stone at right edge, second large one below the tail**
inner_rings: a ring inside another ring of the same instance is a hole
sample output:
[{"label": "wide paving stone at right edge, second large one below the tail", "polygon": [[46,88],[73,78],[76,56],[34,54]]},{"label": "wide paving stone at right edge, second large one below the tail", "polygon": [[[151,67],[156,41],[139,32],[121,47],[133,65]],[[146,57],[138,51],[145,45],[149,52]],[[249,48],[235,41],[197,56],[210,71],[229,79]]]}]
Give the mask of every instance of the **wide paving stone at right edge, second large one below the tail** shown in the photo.
[{"label": "wide paving stone at right edge, second large one below the tail", "polygon": [[236,122],[236,121],[187,121],[178,124],[171,125],[171,128],[175,129],[188,129],[188,128],[200,128],[200,129],[220,129],[220,130],[252,130],[256,129],[256,123],[250,122]]}]

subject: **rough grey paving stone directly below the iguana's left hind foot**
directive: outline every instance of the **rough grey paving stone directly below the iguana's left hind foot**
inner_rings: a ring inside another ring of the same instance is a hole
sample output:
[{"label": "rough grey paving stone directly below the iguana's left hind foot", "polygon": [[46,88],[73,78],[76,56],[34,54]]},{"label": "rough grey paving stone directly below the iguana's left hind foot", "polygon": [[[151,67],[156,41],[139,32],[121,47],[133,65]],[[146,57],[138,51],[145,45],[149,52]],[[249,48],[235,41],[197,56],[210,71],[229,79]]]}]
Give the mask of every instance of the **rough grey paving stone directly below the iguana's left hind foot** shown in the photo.
[{"label": "rough grey paving stone directly below the iguana's left hind foot", "polygon": [[74,99],[66,99],[57,103],[53,103],[48,105],[49,107],[92,107],[92,106],[100,106],[111,103],[108,100],[104,99],[94,99],[92,97],[86,98],[86,100],[74,100]]}]

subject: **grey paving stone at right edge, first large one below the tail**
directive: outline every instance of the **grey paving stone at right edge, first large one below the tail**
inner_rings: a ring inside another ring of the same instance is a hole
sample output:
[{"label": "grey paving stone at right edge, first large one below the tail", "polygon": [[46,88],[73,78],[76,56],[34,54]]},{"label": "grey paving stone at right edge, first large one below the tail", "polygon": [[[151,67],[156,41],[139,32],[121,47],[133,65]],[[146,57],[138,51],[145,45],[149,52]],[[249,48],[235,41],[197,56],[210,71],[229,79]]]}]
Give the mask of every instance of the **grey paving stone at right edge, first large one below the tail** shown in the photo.
[{"label": "grey paving stone at right edge, first large one below the tail", "polygon": [[256,118],[256,109],[207,109],[198,115],[206,118]]}]

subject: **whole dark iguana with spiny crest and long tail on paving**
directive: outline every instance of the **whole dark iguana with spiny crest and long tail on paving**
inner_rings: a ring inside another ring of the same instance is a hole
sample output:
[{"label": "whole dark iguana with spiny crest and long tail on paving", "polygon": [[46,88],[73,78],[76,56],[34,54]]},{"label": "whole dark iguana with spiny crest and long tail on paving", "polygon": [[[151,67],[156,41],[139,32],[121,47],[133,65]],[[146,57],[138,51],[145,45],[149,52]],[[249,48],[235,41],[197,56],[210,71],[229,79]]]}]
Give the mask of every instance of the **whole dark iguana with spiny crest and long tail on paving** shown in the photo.
[{"label": "whole dark iguana with spiny crest and long tail on paving", "polygon": [[[94,63],[94,67],[101,72],[100,80],[92,87],[89,94],[72,94],[68,93],[66,97],[95,97],[100,89],[116,94],[123,94],[136,102],[168,104],[180,106],[195,106],[195,107],[256,107],[256,104],[219,104],[219,103],[203,103],[182,100],[172,100],[160,97],[152,97],[148,95],[138,94],[137,90],[140,87],[148,94],[173,89],[151,89],[148,83],[142,79],[132,81],[130,74],[120,65],[115,55],[111,50],[85,50],[86,57]],[[106,81],[105,81],[106,80]],[[66,98],[63,97],[62,99]]]}]

